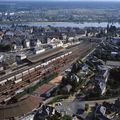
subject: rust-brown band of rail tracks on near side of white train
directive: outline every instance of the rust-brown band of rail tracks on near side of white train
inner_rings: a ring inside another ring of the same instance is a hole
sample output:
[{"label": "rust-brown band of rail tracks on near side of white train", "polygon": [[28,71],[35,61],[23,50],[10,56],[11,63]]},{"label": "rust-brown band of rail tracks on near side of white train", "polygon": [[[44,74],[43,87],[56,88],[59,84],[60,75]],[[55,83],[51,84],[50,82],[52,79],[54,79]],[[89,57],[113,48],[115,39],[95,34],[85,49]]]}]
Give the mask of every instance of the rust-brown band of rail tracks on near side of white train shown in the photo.
[{"label": "rust-brown band of rail tracks on near side of white train", "polygon": [[[94,45],[93,47],[95,47]],[[5,85],[0,86],[0,102],[4,100],[8,100],[12,96],[15,95],[15,92],[19,89],[22,89],[32,82],[45,77],[48,73],[58,72],[62,73],[67,69],[73,62],[75,62],[78,58],[85,56],[90,50],[90,44],[82,44],[77,47],[73,47],[66,50],[67,52],[71,52],[71,54],[67,56],[61,56],[59,59],[54,59],[49,62],[47,65],[40,66],[41,62],[38,62],[34,65],[28,66],[26,69],[31,69],[31,72],[22,77],[21,81],[18,83],[14,83],[14,81],[10,81],[11,83],[5,83]],[[37,67],[39,66],[39,67]],[[33,69],[32,71],[32,68]],[[23,68],[22,68],[23,69]],[[21,70],[19,72],[21,72]],[[26,70],[25,69],[25,70]]]}]

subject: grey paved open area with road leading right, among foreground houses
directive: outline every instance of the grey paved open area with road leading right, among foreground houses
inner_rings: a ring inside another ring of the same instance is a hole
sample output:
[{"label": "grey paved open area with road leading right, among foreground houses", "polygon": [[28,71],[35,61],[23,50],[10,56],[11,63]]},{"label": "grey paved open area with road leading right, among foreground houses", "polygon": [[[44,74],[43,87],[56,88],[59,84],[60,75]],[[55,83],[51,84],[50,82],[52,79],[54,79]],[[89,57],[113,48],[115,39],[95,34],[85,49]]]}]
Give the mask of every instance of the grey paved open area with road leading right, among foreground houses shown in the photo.
[{"label": "grey paved open area with road leading right, among foreground houses", "polygon": [[90,107],[94,107],[96,103],[102,104],[103,102],[114,103],[116,98],[106,99],[106,100],[94,100],[94,101],[80,101],[77,99],[66,99],[62,101],[61,106],[55,106],[57,111],[66,113],[67,115],[76,114],[78,109],[84,109],[85,104],[89,104]]}]

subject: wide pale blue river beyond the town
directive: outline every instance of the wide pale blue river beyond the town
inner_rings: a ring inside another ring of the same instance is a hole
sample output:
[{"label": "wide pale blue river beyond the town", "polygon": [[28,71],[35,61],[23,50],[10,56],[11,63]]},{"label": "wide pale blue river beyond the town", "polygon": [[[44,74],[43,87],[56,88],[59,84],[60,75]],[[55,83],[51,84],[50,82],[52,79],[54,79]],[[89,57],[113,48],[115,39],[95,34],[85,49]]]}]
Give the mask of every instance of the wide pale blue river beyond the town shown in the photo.
[{"label": "wide pale blue river beyond the town", "polygon": [[[75,22],[25,22],[20,23],[19,25],[27,25],[27,26],[37,26],[37,27],[47,27],[48,25],[53,27],[107,27],[107,22],[84,22],[84,23],[75,23]],[[111,24],[110,24],[111,25]],[[120,27],[120,23],[113,23],[116,27]],[[10,26],[10,24],[0,24],[1,27]]]}]

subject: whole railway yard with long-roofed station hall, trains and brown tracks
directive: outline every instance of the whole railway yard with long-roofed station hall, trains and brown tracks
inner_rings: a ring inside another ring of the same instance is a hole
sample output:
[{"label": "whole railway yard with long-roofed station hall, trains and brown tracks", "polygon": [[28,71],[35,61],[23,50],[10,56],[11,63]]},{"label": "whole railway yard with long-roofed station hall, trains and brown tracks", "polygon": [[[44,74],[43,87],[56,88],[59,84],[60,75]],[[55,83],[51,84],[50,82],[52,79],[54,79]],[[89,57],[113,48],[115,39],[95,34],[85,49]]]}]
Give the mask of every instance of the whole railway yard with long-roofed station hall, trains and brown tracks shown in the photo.
[{"label": "whole railway yard with long-roofed station hall, trains and brown tracks", "polygon": [[73,62],[86,56],[97,45],[98,43],[87,41],[70,48],[59,47],[27,58],[25,66],[18,67],[0,78],[1,110],[13,96],[35,84],[36,81],[44,80],[43,78],[53,73],[62,75]]}]

